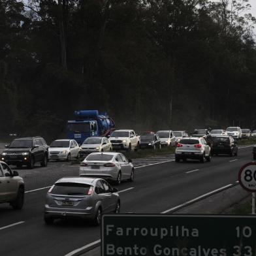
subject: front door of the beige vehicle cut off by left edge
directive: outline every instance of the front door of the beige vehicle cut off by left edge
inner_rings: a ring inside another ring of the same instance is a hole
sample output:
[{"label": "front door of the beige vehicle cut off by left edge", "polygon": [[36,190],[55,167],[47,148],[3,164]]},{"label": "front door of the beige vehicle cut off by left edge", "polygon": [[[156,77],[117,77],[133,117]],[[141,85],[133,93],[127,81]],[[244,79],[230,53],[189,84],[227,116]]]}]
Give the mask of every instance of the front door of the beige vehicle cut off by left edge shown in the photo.
[{"label": "front door of the beige vehicle cut off by left edge", "polygon": [[12,170],[6,163],[1,163],[1,168],[3,170],[3,183],[6,185],[6,198],[7,200],[13,200],[16,198],[18,184],[12,176]]}]

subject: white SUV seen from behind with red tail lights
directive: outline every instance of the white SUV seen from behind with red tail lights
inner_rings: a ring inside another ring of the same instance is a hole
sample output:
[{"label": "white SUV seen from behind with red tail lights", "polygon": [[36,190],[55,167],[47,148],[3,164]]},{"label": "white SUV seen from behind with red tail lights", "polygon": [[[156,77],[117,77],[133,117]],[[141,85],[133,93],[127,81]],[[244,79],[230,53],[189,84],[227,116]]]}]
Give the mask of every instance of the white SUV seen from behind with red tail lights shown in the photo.
[{"label": "white SUV seen from behind with red tail lights", "polygon": [[175,152],[176,163],[180,160],[198,159],[201,163],[211,160],[211,148],[204,138],[189,137],[182,138],[177,144]]}]

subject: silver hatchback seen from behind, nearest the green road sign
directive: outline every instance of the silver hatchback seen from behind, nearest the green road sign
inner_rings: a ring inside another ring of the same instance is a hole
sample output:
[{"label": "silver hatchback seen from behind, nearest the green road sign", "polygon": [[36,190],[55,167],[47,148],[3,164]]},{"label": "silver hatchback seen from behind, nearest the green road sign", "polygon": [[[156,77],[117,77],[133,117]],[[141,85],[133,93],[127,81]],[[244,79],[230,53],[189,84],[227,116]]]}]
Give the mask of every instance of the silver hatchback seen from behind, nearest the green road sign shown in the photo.
[{"label": "silver hatchback seen from behind, nearest the green road sign", "polygon": [[102,214],[120,213],[118,189],[99,178],[62,178],[48,191],[44,206],[44,221],[78,217],[101,223]]}]

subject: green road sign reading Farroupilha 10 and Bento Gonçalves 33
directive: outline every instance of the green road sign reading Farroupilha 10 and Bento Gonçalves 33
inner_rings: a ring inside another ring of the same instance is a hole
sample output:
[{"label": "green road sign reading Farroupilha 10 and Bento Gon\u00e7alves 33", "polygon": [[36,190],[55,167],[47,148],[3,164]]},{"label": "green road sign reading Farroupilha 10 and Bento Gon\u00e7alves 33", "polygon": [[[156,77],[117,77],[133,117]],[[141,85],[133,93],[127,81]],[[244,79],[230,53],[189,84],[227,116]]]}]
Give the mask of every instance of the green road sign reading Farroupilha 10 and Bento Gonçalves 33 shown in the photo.
[{"label": "green road sign reading Farroupilha 10 and Bento Gon\u00e7alves 33", "polygon": [[256,217],[104,215],[101,256],[256,256]]}]

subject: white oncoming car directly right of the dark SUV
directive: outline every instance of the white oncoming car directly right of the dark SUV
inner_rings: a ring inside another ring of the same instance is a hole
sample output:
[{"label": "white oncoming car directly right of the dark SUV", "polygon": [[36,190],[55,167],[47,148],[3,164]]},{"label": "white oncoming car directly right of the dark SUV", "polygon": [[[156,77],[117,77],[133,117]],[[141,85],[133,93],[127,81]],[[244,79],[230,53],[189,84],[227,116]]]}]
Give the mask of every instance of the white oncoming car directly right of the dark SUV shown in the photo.
[{"label": "white oncoming car directly right of the dark SUV", "polygon": [[78,158],[79,146],[76,140],[54,140],[48,149],[49,160],[71,161],[72,157]]}]

